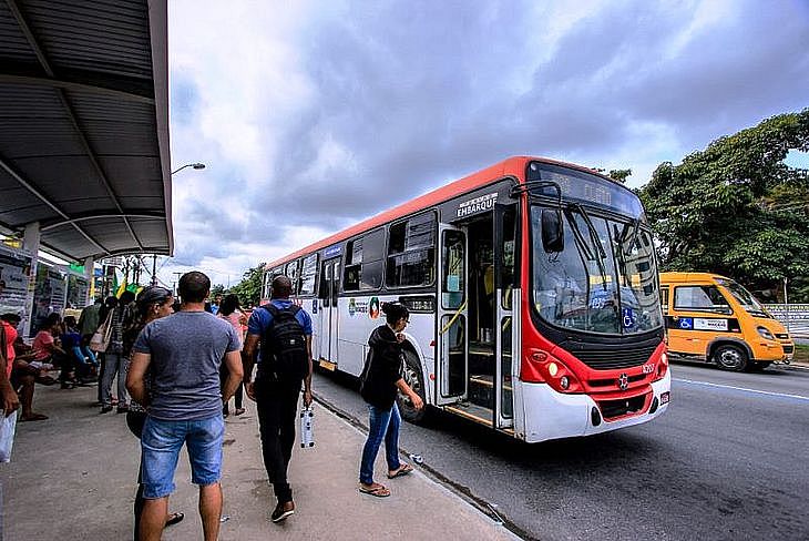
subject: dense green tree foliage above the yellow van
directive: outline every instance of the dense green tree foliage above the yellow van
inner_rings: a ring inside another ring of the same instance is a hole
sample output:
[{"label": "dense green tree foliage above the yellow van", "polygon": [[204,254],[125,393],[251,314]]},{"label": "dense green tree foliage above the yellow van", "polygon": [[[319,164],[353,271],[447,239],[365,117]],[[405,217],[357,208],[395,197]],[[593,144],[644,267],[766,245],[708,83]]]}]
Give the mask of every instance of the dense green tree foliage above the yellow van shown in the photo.
[{"label": "dense green tree foliage above the yellow van", "polygon": [[662,268],[718,273],[758,290],[778,290],[787,277],[792,293],[809,293],[808,175],[784,162],[790,150],[809,151],[809,109],[662,163],[638,191]]}]

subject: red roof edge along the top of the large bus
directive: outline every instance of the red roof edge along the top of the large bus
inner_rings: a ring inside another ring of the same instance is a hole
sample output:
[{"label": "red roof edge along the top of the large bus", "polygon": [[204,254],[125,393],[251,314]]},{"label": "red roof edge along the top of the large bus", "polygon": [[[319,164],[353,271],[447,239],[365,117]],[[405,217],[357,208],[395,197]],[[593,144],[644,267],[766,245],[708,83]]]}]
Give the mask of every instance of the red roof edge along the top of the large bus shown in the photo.
[{"label": "red roof edge along the top of the large bus", "polygon": [[553,164],[553,165],[563,165],[565,167],[571,167],[571,169],[575,169],[578,171],[583,171],[585,173],[595,174],[595,175],[602,176],[608,181],[615,182],[612,178],[610,178],[608,176],[602,175],[597,171],[591,170],[588,167],[583,167],[581,165],[575,165],[575,164],[566,163],[566,162],[560,162],[557,160],[551,160],[547,157],[513,156],[513,157],[503,160],[502,162],[496,163],[490,167],[478,171],[477,173],[472,173],[471,175],[464,176],[463,178],[461,178],[459,181],[451,182],[439,188],[433,190],[432,192],[428,192],[424,195],[421,195],[421,196],[410,200],[406,203],[402,203],[401,205],[390,208],[388,211],[385,211],[381,214],[377,214],[376,216],[365,220],[356,225],[352,225],[351,227],[348,227],[338,233],[335,233],[334,235],[330,235],[321,241],[310,244],[309,246],[306,246],[305,248],[301,248],[297,252],[294,252],[289,255],[281,257],[279,259],[268,263],[267,265],[265,265],[264,268],[270,269],[270,268],[277,267],[278,265],[283,265],[289,261],[300,257],[301,255],[307,255],[313,252],[317,252],[318,249],[326,248],[328,246],[331,246],[332,244],[336,244],[336,243],[339,243],[347,238],[350,238],[357,234],[373,229],[375,227],[379,227],[380,225],[385,225],[388,222],[393,222],[396,220],[399,220],[404,216],[409,216],[410,214],[414,214],[424,208],[429,208],[429,207],[438,205],[440,203],[444,203],[458,195],[462,195],[467,192],[471,192],[479,187],[483,187],[487,184],[490,184],[494,181],[499,181],[505,176],[514,176],[515,178],[521,180],[524,177],[525,165],[528,164],[528,162],[542,162],[542,163],[549,163],[549,164]]}]

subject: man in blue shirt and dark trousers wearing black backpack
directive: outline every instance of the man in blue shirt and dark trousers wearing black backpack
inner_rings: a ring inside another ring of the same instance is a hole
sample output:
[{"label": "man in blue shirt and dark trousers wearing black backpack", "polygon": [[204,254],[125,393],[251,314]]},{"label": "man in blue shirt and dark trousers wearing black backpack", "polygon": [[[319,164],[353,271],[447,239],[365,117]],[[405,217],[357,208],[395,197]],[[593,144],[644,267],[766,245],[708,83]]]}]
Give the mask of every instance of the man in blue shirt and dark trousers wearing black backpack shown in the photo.
[{"label": "man in blue shirt and dark trousers wearing black backpack", "polygon": [[[270,302],[250,315],[242,363],[245,391],[257,405],[264,466],[278,499],[270,518],[280,522],[295,513],[287,468],[295,443],[301,382],[304,405],[311,404],[311,317],[289,300],[289,278],[276,276],[272,287]],[[253,381],[253,365],[259,350]]]}]

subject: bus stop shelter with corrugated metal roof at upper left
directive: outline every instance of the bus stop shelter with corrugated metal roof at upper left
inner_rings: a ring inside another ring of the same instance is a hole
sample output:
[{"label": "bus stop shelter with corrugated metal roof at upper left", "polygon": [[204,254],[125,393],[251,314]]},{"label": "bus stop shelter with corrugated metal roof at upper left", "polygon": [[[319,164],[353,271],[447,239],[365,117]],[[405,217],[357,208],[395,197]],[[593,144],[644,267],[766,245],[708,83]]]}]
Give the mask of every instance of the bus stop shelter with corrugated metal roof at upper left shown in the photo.
[{"label": "bus stop shelter with corrugated metal roof at upper left", "polygon": [[172,254],[166,27],[166,0],[0,0],[0,232],[32,277],[40,248],[90,277]]}]

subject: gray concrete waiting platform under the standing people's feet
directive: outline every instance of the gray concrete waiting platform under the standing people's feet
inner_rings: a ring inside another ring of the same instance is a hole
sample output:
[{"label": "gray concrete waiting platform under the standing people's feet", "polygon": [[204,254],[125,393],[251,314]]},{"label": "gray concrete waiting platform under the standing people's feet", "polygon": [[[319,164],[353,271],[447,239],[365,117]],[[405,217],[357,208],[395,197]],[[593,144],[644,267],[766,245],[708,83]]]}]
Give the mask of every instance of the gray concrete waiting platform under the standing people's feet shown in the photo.
[{"label": "gray concrete waiting platform under the standing people's feet", "polygon": [[[91,407],[95,387],[60,390],[38,386],[34,410],[49,420],[18,425],[12,461],[0,465],[4,541],[126,540],[132,538],[132,503],[140,443],[124,415],[100,415]],[[491,540],[518,539],[421,471],[385,478],[383,453],[377,480],[389,498],[357,490],[365,435],[315,405],[316,447],[296,447],[290,466],[296,514],[269,521],[275,506],[262,463],[254,402],[227,419],[222,540]],[[185,520],[165,530],[165,540],[202,539],[197,489],[187,456],[181,457],[172,511]]]}]

